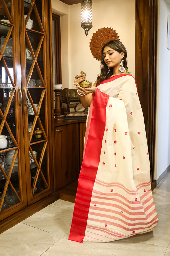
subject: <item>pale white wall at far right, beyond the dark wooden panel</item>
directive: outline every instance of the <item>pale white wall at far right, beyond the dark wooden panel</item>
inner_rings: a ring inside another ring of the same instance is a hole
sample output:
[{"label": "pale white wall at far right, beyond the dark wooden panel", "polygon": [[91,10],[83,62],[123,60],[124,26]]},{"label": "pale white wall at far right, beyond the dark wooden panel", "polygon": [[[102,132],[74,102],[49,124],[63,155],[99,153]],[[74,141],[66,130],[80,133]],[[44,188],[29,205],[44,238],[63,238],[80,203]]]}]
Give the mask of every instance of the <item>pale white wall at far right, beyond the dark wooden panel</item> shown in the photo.
[{"label": "pale white wall at far right, beyond the dark wooden panel", "polygon": [[[157,67],[157,119],[156,119],[156,154],[155,180],[170,165],[170,50],[167,42],[167,15],[170,4],[158,1],[158,67]],[[164,173],[165,174],[165,173]]]}]

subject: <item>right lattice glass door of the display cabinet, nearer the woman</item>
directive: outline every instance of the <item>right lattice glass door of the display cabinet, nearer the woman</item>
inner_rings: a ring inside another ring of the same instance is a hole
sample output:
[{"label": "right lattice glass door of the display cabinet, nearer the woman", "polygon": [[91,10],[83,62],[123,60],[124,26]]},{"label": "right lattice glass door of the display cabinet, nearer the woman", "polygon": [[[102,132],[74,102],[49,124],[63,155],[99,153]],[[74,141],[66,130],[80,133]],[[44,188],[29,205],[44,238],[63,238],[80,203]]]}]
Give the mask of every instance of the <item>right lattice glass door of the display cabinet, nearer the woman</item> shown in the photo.
[{"label": "right lattice glass door of the display cabinet, nearer the woman", "polygon": [[53,191],[49,1],[19,1],[26,187],[32,204]]}]

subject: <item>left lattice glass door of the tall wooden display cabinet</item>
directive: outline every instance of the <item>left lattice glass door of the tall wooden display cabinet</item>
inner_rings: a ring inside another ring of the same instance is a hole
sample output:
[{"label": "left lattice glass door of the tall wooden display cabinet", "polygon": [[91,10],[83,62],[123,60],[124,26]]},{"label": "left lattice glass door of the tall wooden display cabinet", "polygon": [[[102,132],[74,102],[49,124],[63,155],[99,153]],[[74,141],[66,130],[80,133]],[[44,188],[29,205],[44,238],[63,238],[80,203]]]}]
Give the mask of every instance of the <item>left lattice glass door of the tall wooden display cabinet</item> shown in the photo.
[{"label": "left lattice glass door of the tall wooden display cabinet", "polygon": [[18,0],[0,0],[0,220],[27,206]]}]

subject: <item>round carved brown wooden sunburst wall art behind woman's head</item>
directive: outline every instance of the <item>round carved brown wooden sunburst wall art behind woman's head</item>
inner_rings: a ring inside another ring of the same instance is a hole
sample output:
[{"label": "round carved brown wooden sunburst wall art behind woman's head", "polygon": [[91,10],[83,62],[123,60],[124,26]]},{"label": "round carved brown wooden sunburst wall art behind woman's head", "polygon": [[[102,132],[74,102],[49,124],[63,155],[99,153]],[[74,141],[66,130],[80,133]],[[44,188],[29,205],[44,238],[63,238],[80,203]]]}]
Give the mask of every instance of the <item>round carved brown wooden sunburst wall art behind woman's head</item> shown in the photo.
[{"label": "round carved brown wooden sunburst wall art behind woman's head", "polygon": [[101,49],[110,40],[120,40],[113,28],[100,28],[93,34],[90,42],[90,50],[94,58],[101,60]]}]

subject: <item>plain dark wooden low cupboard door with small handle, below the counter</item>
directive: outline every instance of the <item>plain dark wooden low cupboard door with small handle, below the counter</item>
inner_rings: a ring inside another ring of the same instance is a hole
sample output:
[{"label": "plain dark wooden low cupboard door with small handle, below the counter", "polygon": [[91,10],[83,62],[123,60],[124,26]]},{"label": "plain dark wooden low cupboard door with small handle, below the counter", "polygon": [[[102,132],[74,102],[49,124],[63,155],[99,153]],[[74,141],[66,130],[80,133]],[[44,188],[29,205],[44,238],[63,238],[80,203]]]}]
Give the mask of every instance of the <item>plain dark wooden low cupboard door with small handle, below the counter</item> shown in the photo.
[{"label": "plain dark wooden low cupboard door with small handle, below the counter", "polygon": [[62,188],[79,176],[79,127],[68,124],[55,132],[56,188]]}]

